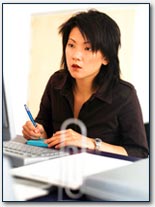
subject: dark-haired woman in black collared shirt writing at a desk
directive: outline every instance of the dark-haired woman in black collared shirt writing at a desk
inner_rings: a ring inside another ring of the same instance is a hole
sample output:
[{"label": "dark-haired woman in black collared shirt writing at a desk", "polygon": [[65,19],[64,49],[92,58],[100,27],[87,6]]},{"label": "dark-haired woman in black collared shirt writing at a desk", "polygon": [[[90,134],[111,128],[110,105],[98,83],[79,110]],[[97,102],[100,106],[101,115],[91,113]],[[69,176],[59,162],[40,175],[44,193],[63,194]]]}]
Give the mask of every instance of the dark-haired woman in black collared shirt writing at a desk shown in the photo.
[{"label": "dark-haired woman in black collared shirt writing at a desk", "polygon": [[[37,127],[27,121],[24,137],[46,138],[48,147],[57,149],[72,145],[147,157],[147,139],[135,88],[120,78],[118,25],[106,14],[89,10],[71,17],[59,32],[63,40],[63,69],[50,77],[35,119]],[[76,125],[60,130],[69,118],[85,124],[84,146]]]}]

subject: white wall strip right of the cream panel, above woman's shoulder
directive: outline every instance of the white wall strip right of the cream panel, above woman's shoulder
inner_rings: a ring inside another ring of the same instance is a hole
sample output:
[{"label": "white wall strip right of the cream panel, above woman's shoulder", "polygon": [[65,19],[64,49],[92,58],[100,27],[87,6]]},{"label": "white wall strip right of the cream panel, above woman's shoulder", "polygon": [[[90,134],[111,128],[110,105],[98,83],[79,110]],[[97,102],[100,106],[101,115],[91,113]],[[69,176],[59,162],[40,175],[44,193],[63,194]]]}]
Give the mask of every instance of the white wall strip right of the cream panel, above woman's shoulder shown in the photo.
[{"label": "white wall strip right of the cream panel, above woman's shoulder", "polygon": [[132,83],[135,85],[142,107],[144,122],[149,121],[149,12],[137,10],[133,40]]}]

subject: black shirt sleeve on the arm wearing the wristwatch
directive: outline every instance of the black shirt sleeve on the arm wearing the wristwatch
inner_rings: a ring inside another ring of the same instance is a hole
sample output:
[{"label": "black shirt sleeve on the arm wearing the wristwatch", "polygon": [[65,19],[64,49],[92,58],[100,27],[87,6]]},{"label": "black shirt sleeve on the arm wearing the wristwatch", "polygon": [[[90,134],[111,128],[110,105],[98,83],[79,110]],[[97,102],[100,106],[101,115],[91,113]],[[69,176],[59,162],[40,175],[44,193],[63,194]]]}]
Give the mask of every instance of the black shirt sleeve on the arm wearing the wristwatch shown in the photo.
[{"label": "black shirt sleeve on the arm wearing the wristwatch", "polygon": [[148,142],[141,107],[134,87],[120,110],[119,122],[122,136],[121,144],[128,155],[147,157]]}]

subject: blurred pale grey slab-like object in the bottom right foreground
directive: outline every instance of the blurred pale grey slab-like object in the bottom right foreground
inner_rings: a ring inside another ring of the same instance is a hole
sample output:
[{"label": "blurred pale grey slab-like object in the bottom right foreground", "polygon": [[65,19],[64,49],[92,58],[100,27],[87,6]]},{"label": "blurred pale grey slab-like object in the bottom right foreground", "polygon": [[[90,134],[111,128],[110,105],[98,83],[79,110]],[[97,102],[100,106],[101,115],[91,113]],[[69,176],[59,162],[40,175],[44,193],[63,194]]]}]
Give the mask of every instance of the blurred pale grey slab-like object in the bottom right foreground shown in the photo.
[{"label": "blurred pale grey slab-like object in the bottom right foreground", "polygon": [[92,200],[149,201],[149,158],[87,176],[80,189]]}]

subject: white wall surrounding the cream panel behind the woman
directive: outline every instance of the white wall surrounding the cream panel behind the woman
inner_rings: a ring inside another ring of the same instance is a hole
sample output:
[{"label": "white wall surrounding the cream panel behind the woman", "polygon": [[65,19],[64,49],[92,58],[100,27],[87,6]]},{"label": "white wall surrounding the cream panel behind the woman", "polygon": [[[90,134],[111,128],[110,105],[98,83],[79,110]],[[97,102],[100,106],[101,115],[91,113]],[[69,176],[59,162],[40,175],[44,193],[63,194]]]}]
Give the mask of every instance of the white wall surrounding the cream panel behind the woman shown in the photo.
[{"label": "white wall surrounding the cream panel behind the woman", "polygon": [[[105,5],[104,5],[105,6]],[[132,77],[142,107],[144,122],[149,120],[149,37],[148,5],[110,5],[111,9],[134,7],[136,22],[134,32],[135,50],[132,55]],[[24,104],[28,98],[28,75],[30,69],[31,15],[52,11],[78,9],[88,5],[56,4],[6,4],[3,5],[3,74],[11,125],[11,137],[21,134],[22,125],[28,119]],[[91,8],[91,5],[89,5]],[[94,7],[94,5],[93,5]],[[100,7],[100,5],[97,5]],[[109,6],[105,6],[105,12]],[[126,40],[127,41],[127,40]],[[127,67],[127,66],[126,66]],[[35,94],[34,94],[35,96]]]}]

